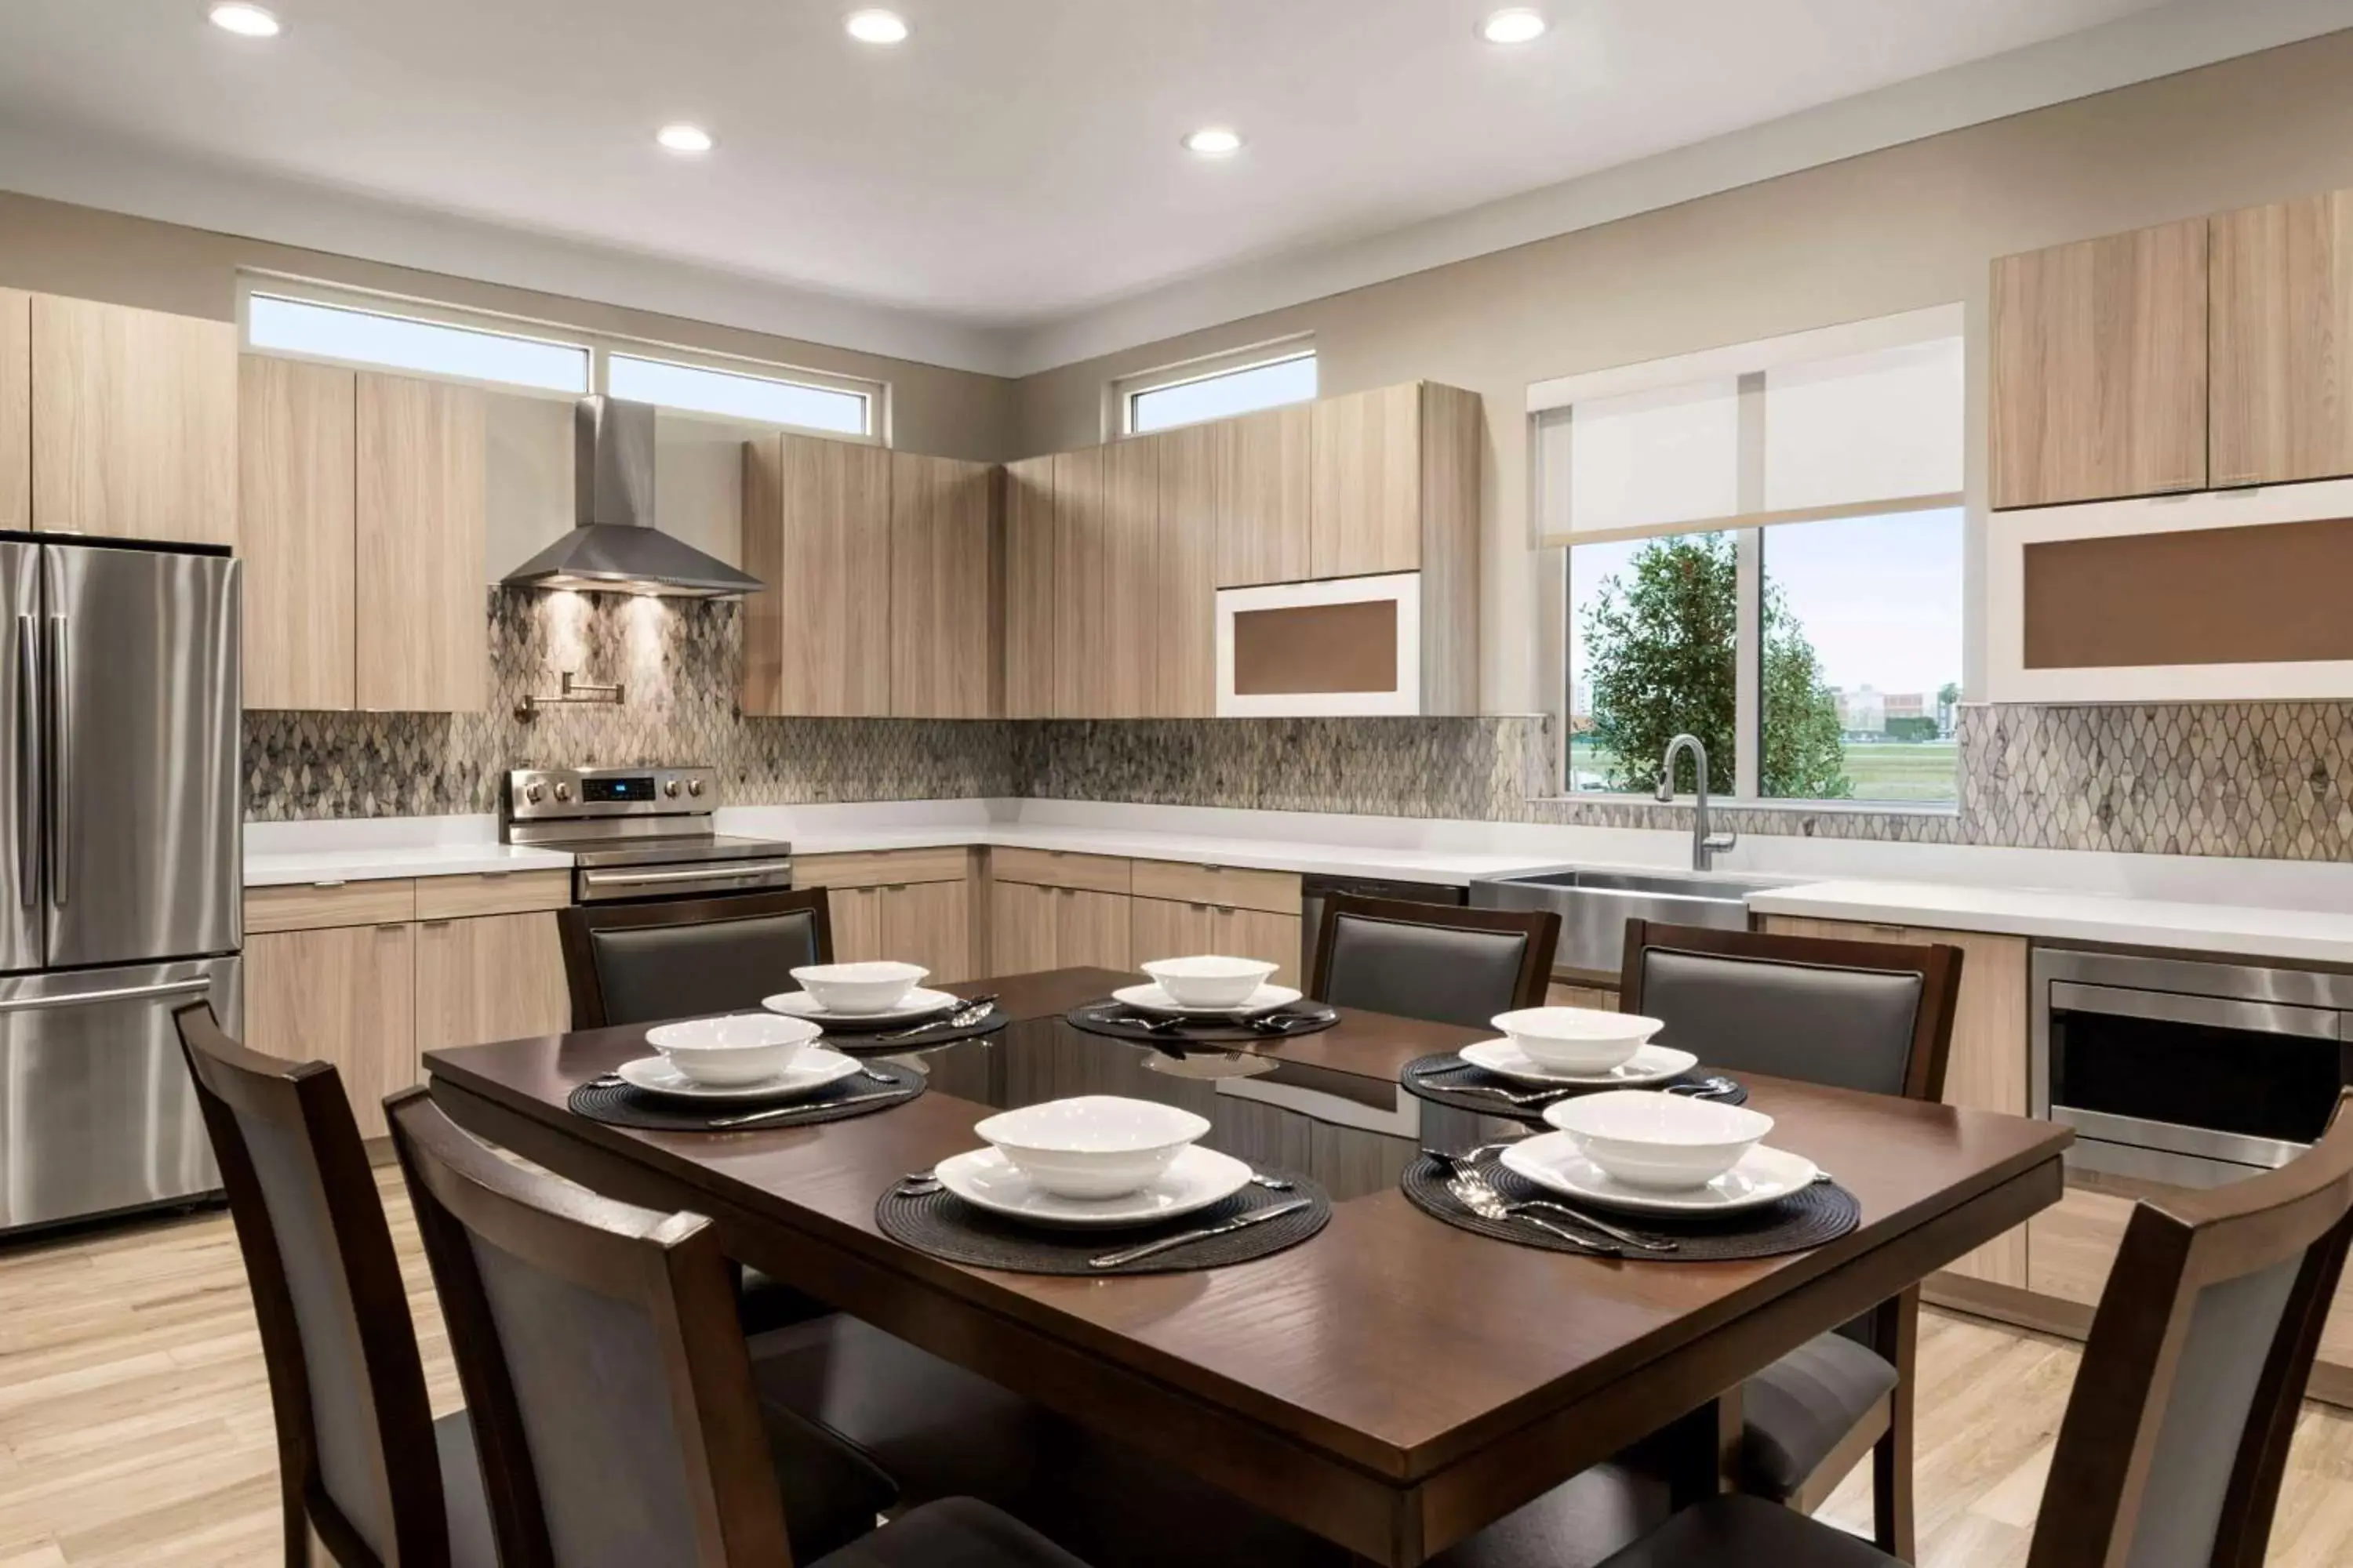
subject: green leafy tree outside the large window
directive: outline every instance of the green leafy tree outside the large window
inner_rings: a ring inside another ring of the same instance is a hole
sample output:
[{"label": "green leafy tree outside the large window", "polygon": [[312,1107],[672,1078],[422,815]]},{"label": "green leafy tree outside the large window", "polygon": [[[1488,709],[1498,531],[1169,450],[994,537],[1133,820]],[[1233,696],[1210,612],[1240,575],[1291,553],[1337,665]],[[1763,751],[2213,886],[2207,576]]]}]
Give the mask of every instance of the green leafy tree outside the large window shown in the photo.
[{"label": "green leafy tree outside the large window", "polygon": [[[1777,585],[1765,585],[1767,795],[1845,799],[1854,783],[1838,743],[1838,703],[1821,661]],[[1729,785],[1739,635],[1732,536],[1659,538],[1609,578],[1584,616],[1593,682],[1593,741],[1617,762],[1612,788],[1654,790],[1666,743],[1689,731],[1708,748],[1713,785]]]}]

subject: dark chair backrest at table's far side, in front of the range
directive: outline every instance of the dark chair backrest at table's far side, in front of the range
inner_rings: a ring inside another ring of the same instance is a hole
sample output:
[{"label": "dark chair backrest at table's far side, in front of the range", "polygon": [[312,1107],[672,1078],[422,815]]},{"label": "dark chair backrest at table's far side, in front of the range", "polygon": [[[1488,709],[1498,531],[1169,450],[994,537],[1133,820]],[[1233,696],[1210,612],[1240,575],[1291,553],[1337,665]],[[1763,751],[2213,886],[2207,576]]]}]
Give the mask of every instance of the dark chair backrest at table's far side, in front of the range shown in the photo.
[{"label": "dark chair backrest at table's far side, in front of the range", "polygon": [[826,889],[558,910],[572,1027],[758,1009],[833,961]]}]

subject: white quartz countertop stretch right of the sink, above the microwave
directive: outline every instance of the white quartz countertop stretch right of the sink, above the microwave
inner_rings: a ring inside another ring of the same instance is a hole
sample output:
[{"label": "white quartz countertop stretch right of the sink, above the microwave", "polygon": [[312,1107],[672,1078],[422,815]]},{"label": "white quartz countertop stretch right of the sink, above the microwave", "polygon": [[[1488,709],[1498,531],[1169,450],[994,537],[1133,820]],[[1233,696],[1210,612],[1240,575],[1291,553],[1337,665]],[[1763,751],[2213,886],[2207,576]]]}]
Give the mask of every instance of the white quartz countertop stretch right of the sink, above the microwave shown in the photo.
[{"label": "white quartz countertop stretch right of the sink, above the microwave", "polygon": [[1809,882],[1751,893],[1748,907],[1760,914],[2353,964],[2353,912],[2334,910],[2264,910],[1939,882]]}]

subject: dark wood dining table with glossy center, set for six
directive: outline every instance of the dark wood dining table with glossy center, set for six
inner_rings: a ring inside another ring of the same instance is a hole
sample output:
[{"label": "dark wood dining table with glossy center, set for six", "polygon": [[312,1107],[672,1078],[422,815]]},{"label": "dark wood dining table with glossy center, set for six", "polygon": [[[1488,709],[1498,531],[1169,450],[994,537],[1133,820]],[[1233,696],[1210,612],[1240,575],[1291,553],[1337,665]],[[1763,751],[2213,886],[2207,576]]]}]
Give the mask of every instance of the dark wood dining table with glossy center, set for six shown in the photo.
[{"label": "dark wood dining table with glossy center, set for six", "polygon": [[[1748,1077],[1772,1143],[1861,1201],[1857,1229],[1751,1262],[1511,1246],[1395,1187],[1417,1147],[1525,1131],[1398,1086],[1417,1056],[1492,1032],[1341,1009],[1318,1034],[1202,1051],[1064,1023],[1127,980],[946,987],[995,992],[1014,1023],[913,1058],[925,1095],[807,1128],[642,1133],[572,1114],[576,1084],[647,1053],[642,1027],[433,1051],[426,1070],[473,1133],[612,1197],[711,1215],[734,1258],[1393,1568],[1640,1439],[1678,1493],[1713,1490],[1748,1375],[2061,1192],[2071,1135],[2049,1121]],[[1071,1093],[1200,1110],[1205,1143],[1320,1180],[1332,1222],[1257,1262],[1120,1279],[941,1262],[875,1229],[875,1199],[976,1147],[991,1110]]]}]

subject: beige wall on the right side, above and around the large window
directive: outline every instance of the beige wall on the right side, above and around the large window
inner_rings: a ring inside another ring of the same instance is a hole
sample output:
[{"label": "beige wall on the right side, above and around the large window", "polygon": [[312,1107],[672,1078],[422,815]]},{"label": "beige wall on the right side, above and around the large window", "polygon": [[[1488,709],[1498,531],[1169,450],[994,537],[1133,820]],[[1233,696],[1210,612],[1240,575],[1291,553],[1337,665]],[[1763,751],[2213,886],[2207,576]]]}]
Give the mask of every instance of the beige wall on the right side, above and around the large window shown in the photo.
[{"label": "beige wall on the right side, above and around the large window", "polygon": [[2353,33],[1061,367],[1019,386],[1016,447],[1101,440],[1113,376],[1294,331],[1315,334],[1327,393],[1412,378],[1482,393],[1480,705],[1541,710],[1560,571],[1558,555],[1527,559],[1532,381],[1965,301],[1981,496],[1993,256],[2339,186],[2353,186]]}]

